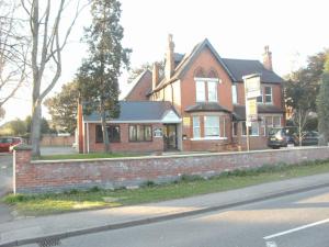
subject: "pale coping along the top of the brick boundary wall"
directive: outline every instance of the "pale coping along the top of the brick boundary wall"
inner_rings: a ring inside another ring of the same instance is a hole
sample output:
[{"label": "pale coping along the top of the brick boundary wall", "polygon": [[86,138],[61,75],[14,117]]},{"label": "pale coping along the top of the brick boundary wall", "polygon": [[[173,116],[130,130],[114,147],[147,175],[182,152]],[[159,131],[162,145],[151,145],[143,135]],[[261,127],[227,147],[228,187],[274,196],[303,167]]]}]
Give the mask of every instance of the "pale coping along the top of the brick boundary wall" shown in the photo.
[{"label": "pale coping along the top of the brick boundary wall", "polygon": [[203,154],[179,154],[179,155],[162,155],[162,156],[139,156],[124,158],[92,158],[92,159],[56,159],[56,160],[31,160],[31,164],[66,164],[66,162],[97,162],[97,161],[125,161],[125,160],[149,160],[149,159],[167,159],[167,158],[188,158],[188,157],[205,157],[205,156],[226,156],[226,155],[246,155],[246,154],[262,154],[275,151],[306,150],[306,149],[329,149],[329,146],[308,146],[294,147],[284,149],[263,149],[250,151],[225,151],[225,153],[203,153]]}]

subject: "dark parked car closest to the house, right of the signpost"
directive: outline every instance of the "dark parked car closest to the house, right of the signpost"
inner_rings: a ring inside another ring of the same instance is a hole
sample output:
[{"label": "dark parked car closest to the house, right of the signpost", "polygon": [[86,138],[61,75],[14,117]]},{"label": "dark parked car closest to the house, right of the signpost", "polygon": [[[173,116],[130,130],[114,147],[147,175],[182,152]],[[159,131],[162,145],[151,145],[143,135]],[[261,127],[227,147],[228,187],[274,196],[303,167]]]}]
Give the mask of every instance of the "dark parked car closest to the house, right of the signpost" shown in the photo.
[{"label": "dark parked car closest to the house, right of the signpost", "polygon": [[288,144],[297,145],[295,128],[293,127],[272,127],[269,130],[268,147],[280,148]]}]

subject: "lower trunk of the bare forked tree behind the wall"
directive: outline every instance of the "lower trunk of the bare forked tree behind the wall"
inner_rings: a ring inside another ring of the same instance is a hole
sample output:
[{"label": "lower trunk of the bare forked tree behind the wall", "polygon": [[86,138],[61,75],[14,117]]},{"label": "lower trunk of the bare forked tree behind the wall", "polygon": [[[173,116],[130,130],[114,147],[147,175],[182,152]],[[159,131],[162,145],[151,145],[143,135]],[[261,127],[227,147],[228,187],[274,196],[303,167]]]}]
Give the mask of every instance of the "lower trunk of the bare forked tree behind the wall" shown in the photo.
[{"label": "lower trunk of the bare forked tree behind the wall", "polygon": [[42,105],[36,102],[32,108],[31,144],[33,156],[39,157]]}]

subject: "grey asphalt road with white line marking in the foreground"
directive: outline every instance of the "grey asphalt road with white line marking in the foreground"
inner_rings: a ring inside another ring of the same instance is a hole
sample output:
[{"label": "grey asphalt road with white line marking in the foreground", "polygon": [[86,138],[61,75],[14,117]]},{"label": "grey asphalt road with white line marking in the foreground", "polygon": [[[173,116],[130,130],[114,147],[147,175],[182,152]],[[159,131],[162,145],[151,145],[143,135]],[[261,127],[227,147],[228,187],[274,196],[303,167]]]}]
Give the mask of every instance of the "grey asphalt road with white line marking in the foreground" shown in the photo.
[{"label": "grey asphalt road with white line marking in the foreground", "polygon": [[[61,239],[98,247],[328,247],[329,189],[203,215]],[[37,245],[29,245],[37,246]]]}]

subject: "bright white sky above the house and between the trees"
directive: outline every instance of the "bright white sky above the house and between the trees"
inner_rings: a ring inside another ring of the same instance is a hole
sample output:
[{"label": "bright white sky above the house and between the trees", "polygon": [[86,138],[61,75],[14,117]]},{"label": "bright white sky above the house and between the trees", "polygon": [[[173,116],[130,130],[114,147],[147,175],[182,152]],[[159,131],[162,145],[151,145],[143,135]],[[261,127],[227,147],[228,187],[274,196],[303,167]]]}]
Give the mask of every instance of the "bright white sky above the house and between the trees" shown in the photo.
[{"label": "bright white sky above the house and between the trees", "polygon": [[[168,34],[177,53],[190,53],[208,38],[219,56],[262,60],[264,46],[272,52],[273,69],[284,76],[305,66],[306,58],[329,47],[326,0],[122,0],[121,24],[124,47],[133,49],[131,66],[138,67],[164,56]],[[63,21],[71,19],[69,13]],[[63,75],[49,93],[75,78],[87,56],[81,44],[83,26],[90,25],[88,9],[80,15],[63,54]],[[123,71],[120,87],[125,94],[132,85]],[[31,88],[22,88],[4,105],[1,123],[31,114]],[[48,119],[47,110],[43,114]]]}]

